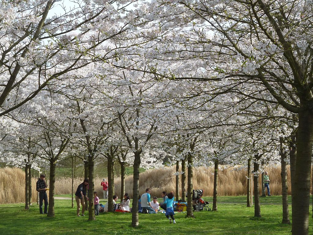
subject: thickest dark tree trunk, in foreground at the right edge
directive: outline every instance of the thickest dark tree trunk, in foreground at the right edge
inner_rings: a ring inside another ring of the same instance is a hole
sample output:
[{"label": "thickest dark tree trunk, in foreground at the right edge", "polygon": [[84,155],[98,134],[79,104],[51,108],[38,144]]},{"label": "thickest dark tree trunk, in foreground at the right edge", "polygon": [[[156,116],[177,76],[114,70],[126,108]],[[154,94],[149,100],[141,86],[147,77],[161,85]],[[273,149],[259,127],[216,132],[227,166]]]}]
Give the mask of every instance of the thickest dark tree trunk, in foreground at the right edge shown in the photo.
[{"label": "thickest dark tree trunk, in foreground at the right edge", "polygon": [[309,234],[310,179],[313,143],[313,113],[300,108],[297,133],[295,181],[292,194],[292,234]]}]

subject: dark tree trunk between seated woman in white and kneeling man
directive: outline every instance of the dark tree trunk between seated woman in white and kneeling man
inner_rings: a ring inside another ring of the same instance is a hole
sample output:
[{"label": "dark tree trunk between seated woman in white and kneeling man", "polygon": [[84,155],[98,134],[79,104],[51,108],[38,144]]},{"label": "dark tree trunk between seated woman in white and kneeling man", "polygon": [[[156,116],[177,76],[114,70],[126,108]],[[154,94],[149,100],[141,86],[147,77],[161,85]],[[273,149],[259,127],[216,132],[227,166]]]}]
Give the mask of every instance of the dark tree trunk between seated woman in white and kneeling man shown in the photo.
[{"label": "dark tree trunk between seated woman in white and kneeling man", "polygon": [[133,202],[132,202],[132,213],[131,213],[131,226],[138,227],[139,219],[138,219],[138,196],[139,196],[139,167],[140,167],[141,159],[140,153],[135,152],[135,160],[134,160],[134,175],[133,175]]}]

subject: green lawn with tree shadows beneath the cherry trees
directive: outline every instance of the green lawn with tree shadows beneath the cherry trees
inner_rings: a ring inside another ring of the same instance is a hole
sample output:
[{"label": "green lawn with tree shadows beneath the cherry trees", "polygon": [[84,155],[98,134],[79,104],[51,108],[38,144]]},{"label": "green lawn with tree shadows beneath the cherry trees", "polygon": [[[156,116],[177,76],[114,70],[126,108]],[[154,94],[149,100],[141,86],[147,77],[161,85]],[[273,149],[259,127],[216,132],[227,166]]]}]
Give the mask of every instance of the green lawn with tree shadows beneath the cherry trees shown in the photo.
[{"label": "green lawn with tree shadows beneath the cherry trees", "polygon": [[[279,196],[277,196],[278,198]],[[220,198],[219,201],[222,201]],[[272,198],[272,197],[270,197]],[[274,200],[275,197],[273,196]],[[68,200],[55,200],[55,218],[39,214],[38,205],[24,211],[23,204],[0,205],[1,234],[291,234],[291,225],[281,224],[281,205],[262,205],[261,219],[254,219],[254,208],[236,203],[219,204],[218,212],[195,212],[195,218],[185,218],[185,213],[175,214],[176,225],[169,224],[164,214],[139,214],[138,228],[132,228],[131,213],[101,213],[96,221],[76,217],[76,208]],[[224,199],[226,201],[226,199]],[[238,201],[238,203],[237,203]],[[234,201],[233,201],[234,202]],[[311,216],[310,208],[310,216]],[[290,207],[291,218],[291,207]],[[312,234],[312,219],[309,233]]]}]

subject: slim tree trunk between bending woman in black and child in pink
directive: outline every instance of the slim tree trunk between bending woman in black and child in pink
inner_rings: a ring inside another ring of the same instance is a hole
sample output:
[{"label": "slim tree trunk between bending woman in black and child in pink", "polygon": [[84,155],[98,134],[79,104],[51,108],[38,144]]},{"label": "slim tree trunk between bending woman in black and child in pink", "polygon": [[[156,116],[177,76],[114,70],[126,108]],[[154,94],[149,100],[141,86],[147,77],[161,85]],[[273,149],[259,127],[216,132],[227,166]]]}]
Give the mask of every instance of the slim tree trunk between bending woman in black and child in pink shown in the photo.
[{"label": "slim tree trunk between bending woman in black and child in pink", "polygon": [[88,220],[95,220],[95,208],[94,208],[94,156],[93,154],[88,155],[88,198],[89,198],[89,209],[88,209]]}]

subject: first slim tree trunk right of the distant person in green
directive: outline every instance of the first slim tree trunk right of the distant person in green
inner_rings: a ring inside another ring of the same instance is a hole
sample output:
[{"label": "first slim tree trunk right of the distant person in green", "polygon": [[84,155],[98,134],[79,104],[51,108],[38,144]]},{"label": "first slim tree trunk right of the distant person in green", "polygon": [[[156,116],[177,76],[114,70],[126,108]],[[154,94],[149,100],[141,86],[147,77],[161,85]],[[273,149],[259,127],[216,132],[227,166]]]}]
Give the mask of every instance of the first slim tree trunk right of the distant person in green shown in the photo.
[{"label": "first slim tree trunk right of the distant person in green", "polygon": [[283,149],[283,139],[280,138],[280,156],[281,156],[281,188],[283,195],[283,224],[290,224],[288,208],[288,185],[287,185],[287,163],[286,153]]}]

